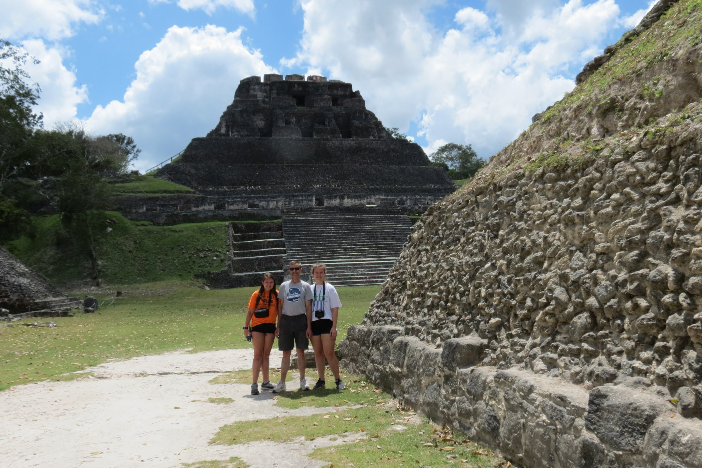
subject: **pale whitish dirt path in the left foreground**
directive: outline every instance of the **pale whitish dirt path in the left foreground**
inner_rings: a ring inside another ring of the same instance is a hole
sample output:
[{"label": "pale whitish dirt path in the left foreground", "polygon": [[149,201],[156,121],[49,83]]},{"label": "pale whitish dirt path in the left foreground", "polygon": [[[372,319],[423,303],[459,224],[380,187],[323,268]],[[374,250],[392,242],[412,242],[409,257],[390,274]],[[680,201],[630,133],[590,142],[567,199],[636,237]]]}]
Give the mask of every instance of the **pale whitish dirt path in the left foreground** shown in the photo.
[{"label": "pale whitish dirt path in the left foreground", "polygon": [[[270,392],[251,396],[249,385],[208,384],[218,372],[250,368],[252,356],[250,349],[166,353],[88,369],[98,378],[0,392],[0,467],[171,468],[232,456],[252,467],[324,465],[305,455],[340,441],[208,446],[223,424],[333,411],[287,410]],[[279,362],[273,351],[271,363]],[[234,402],[216,405],[210,397]]]}]

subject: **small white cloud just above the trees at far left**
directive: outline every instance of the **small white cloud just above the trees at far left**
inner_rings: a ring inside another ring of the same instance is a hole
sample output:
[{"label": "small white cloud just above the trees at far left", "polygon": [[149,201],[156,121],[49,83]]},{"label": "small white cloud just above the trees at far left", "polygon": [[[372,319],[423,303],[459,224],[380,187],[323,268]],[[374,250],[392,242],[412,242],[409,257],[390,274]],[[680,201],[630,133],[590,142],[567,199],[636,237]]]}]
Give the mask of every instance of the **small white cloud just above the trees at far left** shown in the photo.
[{"label": "small white cloud just above the trees at far left", "polygon": [[44,114],[44,126],[51,129],[58,122],[74,119],[77,105],[88,100],[88,92],[86,85],[76,86],[75,71],[63,65],[65,51],[47,48],[41,39],[23,41],[22,48],[39,60],[38,64],[27,61],[24,69],[41,88],[37,110]]}]

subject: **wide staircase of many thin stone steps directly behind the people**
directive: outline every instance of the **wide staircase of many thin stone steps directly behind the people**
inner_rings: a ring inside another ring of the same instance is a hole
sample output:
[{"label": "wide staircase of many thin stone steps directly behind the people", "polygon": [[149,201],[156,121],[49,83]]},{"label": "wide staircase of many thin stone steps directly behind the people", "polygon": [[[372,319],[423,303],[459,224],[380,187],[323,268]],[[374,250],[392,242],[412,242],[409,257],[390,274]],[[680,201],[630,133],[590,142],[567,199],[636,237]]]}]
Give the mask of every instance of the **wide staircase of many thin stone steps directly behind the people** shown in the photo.
[{"label": "wide staircase of many thin stone steps directly behind the people", "polygon": [[[335,286],[379,285],[388,276],[412,226],[399,209],[319,207],[283,212],[287,249],[282,261],[310,266],[326,264],[326,278]],[[286,271],[286,279],[289,272]]]}]

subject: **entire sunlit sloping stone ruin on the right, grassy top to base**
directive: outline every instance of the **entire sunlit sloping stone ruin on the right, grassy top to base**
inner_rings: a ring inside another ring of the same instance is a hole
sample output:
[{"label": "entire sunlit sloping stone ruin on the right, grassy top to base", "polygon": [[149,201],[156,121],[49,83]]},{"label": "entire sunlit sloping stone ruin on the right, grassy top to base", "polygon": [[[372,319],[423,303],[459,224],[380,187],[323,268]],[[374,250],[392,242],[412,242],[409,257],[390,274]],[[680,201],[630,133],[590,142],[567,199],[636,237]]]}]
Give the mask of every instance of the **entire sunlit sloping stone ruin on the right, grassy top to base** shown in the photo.
[{"label": "entire sunlit sloping stone ruin on the right, grassy top to base", "polygon": [[530,468],[702,467],[699,6],[659,1],[428,209],[345,368]]}]

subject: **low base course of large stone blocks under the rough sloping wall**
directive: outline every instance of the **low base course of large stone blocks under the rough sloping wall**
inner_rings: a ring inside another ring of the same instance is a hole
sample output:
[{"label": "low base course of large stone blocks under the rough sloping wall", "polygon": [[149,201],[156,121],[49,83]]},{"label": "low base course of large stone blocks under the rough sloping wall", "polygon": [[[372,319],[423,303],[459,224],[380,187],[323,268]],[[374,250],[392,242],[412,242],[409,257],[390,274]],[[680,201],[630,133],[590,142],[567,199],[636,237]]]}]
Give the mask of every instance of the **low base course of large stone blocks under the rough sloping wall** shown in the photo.
[{"label": "low base course of large stone blocks under the rough sloping wall", "polygon": [[638,385],[581,385],[483,365],[488,340],[440,348],[405,327],[351,326],[341,364],[420,410],[531,468],[702,467],[702,422]]}]

